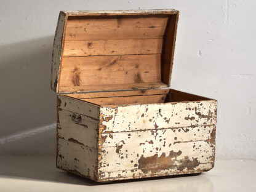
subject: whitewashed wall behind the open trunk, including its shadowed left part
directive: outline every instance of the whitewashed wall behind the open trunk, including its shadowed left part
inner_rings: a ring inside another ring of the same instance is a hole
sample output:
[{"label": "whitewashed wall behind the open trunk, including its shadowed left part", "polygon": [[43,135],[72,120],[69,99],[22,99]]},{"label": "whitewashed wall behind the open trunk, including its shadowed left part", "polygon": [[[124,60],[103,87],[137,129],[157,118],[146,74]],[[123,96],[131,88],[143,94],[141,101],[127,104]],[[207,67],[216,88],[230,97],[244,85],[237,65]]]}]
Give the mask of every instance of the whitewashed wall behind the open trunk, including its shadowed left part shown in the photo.
[{"label": "whitewashed wall behind the open trunk, including its shadowed left part", "polygon": [[0,152],[55,153],[60,10],[180,10],[172,87],[218,100],[217,158],[256,159],[256,1],[0,0]]}]

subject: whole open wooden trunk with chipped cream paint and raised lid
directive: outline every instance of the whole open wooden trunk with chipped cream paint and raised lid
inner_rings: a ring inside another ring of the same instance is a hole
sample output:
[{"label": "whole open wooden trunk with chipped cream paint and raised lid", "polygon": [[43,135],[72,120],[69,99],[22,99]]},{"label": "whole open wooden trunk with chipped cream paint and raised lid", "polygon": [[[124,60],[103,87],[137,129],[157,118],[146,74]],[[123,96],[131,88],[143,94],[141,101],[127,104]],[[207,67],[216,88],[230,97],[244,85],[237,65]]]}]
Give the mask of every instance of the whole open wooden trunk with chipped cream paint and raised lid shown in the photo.
[{"label": "whole open wooden trunk with chipped cream paint and raised lid", "polygon": [[177,10],[60,12],[57,167],[95,182],[214,167],[217,100],[170,89]]}]

